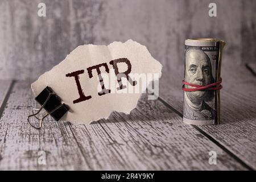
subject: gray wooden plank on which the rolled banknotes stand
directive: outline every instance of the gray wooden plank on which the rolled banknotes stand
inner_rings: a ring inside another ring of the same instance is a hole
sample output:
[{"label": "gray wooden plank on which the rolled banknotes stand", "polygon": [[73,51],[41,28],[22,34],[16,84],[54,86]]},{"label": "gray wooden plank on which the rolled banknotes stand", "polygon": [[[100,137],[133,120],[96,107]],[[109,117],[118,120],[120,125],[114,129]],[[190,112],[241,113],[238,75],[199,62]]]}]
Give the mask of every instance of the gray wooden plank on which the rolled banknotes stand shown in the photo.
[{"label": "gray wooden plank on which the rolled banknotes stand", "polygon": [[[175,70],[166,72],[159,90],[160,97],[180,113],[183,113],[183,74]],[[224,63],[221,74],[221,124],[199,128],[256,169],[256,79],[245,66],[232,63]]]}]

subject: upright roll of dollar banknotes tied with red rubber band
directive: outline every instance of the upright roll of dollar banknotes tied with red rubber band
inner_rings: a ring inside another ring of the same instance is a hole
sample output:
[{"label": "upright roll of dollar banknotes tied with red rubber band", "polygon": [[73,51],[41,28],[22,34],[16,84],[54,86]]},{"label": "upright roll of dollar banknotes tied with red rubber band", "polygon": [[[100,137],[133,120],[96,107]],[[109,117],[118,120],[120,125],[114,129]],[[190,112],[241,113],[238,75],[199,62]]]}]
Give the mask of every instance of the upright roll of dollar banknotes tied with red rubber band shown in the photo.
[{"label": "upright roll of dollar banknotes tied with red rubber band", "polygon": [[218,39],[185,40],[183,122],[213,125],[220,122],[221,55]]}]

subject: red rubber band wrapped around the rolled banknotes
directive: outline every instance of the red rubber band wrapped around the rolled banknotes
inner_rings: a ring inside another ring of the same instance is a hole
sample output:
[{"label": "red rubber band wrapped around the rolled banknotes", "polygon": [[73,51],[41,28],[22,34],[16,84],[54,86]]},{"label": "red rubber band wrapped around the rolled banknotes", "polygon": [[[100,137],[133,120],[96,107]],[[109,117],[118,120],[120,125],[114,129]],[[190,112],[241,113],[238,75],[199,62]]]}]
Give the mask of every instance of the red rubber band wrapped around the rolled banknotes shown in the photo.
[{"label": "red rubber band wrapped around the rolled banknotes", "polygon": [[182,89],[186,92],[193,92],[193,91],[198,91],[198,90],[220,90],[222,89],[222,78],[220,78],[220,81],[215,82],[213,84],[209,84],[209,85],[195,85],[195,84],[189,84],[188,82],[185,82],[184,80],[182,81],[184,85],[189,85],[189,86],[193,86],[195,88],[185,88],[184,85],[182,86]]}]

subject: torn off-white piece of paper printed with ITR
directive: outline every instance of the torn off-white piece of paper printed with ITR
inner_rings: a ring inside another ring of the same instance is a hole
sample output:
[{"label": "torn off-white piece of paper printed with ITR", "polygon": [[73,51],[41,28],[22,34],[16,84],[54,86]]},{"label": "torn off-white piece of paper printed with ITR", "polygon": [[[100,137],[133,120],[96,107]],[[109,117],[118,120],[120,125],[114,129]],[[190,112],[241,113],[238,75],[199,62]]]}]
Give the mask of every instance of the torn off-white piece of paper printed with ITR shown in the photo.
[{"label": "torn off-white piece of paper printed with ITR", "polygon": [[[98,75],[96,65],[101,75]],[[49,86],[70,107],[61,120],[73,124],[90,123],[108,118],[112,111],[129,114],[137,106],[146,86],[160,78],[161,71],[162,65],[147,48],[133,40],[113,42],[108,46],[89,44],[74,49],[65,60],[32,83],[31,88],[38,96]],[[116,72],[124,72],[119,82],[120,74],[116,76]],[[130,76],[130,82],[125,74]],[[102,92],[99,76],[110,93]]]}]

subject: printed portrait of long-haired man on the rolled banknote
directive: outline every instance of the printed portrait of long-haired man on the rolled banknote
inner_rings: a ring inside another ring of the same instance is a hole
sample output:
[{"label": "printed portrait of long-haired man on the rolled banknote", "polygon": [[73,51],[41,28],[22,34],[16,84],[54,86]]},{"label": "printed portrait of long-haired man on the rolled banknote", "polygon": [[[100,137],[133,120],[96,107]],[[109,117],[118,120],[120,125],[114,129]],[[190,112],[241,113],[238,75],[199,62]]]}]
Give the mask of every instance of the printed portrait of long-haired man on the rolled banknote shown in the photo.
[{"label": "printed portrait of long-haired man on the rolled banknote", "polygon": [[[189,48],[185,52],[185,81],[202,86],[214,82],[210,59],[199,48]],[[193,87],[185,85],[185,88]],[[207,104],[213,97],[213,90],[184,92],[184,117],[195,120],[214,119],[216,111]]]}]

